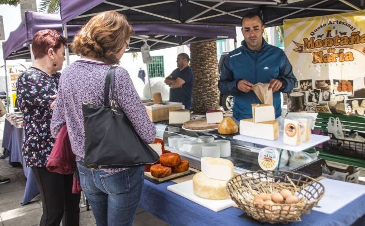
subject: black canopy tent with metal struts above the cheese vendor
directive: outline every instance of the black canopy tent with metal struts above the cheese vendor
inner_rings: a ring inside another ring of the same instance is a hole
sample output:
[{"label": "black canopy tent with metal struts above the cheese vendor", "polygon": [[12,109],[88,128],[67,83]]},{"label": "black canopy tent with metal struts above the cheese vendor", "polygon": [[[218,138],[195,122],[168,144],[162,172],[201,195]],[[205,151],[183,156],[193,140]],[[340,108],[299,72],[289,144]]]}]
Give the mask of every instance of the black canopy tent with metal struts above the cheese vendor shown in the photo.
[{"label": "black canopy tent with metal struts above the cheese vendor", "polygon": [[242,16],[253,11],[262,15],[267,27],[284,19],[360,11],[364,0],[61,0],[62,23],[85,24],[93,15],[114,10],[132,24],[208,24],[240,26]]}]

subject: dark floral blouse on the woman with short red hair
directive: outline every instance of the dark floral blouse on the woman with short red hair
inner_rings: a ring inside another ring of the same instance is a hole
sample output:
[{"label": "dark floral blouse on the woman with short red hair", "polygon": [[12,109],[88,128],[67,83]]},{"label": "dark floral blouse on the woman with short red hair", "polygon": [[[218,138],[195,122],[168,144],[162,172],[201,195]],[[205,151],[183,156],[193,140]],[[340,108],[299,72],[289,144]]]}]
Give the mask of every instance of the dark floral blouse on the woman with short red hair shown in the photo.
[{"label": "dark floral blouse on the woman with short red hair", "polygon": [[51,136],[52,118],[50,96],[58,89],[60,73],[29,67],[18,78],[17,101],[23,113],[25,137],[22,152],[26,166],[46,167],[55,139]]}]

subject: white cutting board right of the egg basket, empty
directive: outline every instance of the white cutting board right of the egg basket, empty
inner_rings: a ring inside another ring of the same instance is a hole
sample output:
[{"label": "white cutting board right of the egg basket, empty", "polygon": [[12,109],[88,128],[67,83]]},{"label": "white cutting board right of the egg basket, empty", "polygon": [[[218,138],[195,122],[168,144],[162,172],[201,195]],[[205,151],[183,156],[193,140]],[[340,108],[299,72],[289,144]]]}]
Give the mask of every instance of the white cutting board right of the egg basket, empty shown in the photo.
[{"label": "white cutting board right of the egg basket, empty", "polygon": [[365,194],[365,185],[324,178],[324,196],[312,210],[332,214]]}]

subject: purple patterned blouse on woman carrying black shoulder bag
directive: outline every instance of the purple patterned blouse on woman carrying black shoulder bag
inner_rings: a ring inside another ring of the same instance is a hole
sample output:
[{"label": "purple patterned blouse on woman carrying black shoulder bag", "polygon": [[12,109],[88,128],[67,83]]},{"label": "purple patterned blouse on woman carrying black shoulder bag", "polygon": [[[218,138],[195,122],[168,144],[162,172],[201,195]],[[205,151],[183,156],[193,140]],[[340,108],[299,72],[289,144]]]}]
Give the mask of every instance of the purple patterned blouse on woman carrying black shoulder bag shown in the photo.
[{"label": "purple patterned blouse on woman carrying black shoulder bag", "polygon": [[[51,133],[53,137],[57,137],[60,126],[66,123],[76,161],[82,161],[85,155],[82,102],[88,101],[100,106],[103,104],[105,78],[110,67],[111,65],[99,61],[80,59],[67,66],[61,74]],[[139,136],[145,142],[153,143],[156,127],[149,119],[127,70],[117,67],[114,80],[113,95],[116,105],[125,112]],[[109,91],[109,99],[111,93]]]}]

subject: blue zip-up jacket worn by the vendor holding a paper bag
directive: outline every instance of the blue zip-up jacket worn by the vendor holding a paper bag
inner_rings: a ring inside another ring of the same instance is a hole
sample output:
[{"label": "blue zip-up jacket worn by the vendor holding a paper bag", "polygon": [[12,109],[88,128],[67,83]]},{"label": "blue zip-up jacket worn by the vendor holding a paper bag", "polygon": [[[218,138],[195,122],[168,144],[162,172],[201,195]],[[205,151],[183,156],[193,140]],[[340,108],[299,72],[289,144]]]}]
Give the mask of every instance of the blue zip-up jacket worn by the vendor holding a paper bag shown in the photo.
[{"label": "blue zip-up jacket worn by the vendor holding a paper bag", "polygon": [[233,117],[236,120],[252,118],[252,103],[261,103],[253,91],[248,93],[237,89],[237,82],[245,79],[252,84],[269,83],[271,79],[278,79],[283,86],[273,93],[275,118],[281,116],[280,92],[290,92],[297,82],[291,69],[291,64],[284,51],[267,44],[263,39],[260,50],[250,50],[246,42],[231,51],[226,57],[218,81],[218,88],[222,94],[233,95]]}]

